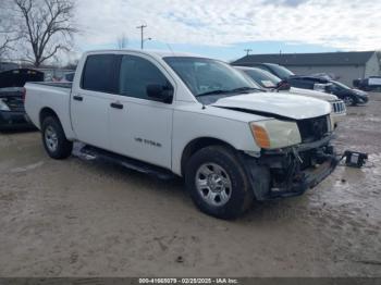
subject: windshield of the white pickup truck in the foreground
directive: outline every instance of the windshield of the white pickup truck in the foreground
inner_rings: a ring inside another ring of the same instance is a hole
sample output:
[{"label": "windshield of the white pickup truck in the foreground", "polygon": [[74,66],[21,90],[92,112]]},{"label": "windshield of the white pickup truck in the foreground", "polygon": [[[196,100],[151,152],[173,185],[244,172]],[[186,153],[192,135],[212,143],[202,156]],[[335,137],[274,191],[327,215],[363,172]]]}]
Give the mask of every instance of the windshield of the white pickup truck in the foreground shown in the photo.
[{"label": "windshield of the white pickup truck in the foreground", "polygon": [[218,60],[192,57],[168,57],[163,60],[202,103],[212,103],[221,97],[253,92],[258,88],[241,72]]}]

